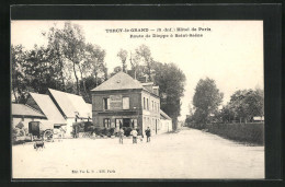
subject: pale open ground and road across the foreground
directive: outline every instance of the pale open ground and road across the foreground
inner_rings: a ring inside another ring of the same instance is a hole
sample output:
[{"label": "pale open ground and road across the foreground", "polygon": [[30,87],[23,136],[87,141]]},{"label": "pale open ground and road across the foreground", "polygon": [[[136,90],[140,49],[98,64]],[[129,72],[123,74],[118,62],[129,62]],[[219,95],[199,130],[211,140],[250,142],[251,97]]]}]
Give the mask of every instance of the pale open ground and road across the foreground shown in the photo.
[{"label": "pale open ground and road across the foreground", "polygon": [[184,128],[132,139],[64,139],[12,147],[13,178],[264,178],[264,147]]}]

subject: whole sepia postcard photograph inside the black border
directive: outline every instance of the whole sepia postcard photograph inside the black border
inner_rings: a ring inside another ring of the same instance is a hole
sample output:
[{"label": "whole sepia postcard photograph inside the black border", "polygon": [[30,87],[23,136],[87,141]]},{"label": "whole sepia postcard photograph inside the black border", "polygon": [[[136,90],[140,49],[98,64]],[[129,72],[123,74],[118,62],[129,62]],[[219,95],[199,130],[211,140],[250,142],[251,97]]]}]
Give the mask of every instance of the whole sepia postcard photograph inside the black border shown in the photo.
[{"label": "whole sepia postcard photograph inside the black border", "polygon": [[264,179],[262,20],[11,20],[12,179]]}]

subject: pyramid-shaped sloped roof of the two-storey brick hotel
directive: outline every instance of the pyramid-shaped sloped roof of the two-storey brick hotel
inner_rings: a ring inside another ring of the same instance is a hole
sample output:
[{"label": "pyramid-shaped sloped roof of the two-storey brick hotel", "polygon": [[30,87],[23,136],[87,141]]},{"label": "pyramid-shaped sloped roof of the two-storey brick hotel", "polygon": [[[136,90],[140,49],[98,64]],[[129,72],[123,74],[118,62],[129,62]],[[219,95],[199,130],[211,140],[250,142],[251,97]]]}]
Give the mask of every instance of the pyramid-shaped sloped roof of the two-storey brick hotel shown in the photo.
[{"label": "pyramid-shaped sloped roof of the two-storey brick hotel", "polygon": [[141,83],[124,72],[118,72],[91,91],[144,89]]}]

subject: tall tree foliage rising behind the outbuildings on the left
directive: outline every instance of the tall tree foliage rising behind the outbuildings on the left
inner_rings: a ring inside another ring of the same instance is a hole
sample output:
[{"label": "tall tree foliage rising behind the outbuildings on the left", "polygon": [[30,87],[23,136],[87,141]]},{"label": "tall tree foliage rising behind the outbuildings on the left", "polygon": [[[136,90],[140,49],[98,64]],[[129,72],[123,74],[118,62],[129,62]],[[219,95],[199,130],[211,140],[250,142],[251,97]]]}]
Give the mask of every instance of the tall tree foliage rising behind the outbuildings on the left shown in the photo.
[{"label": "tall tree foliage rising behind the outbuildings on the left", "polygon": [[90,87],[98,86],[107,78],[105,50],[87,44],[82,28],[71,22],[66,22],[61,28],[54,25],[43,36],[47,39],[45,47],[35,45],[31,50],[22,46],[11,48],[15,101],[24,100],[29,91],[46,93],[50,87],[82,95],[91,102]]}]

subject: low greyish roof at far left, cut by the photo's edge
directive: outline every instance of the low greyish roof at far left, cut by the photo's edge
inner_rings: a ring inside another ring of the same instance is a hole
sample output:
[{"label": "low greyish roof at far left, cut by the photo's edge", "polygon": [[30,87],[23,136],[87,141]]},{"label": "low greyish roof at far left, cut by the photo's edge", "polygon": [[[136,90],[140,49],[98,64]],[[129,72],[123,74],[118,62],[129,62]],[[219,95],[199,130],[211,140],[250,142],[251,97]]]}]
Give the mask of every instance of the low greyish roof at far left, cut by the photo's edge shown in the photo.
[{"label": "low greyish roof at far left, cut by the photo's edge", "polygon": [[12,103],[12,116],[46,118],[41,112],[24,105]]}]

